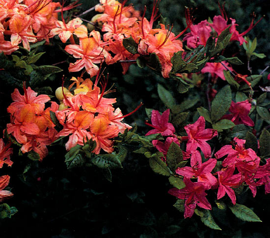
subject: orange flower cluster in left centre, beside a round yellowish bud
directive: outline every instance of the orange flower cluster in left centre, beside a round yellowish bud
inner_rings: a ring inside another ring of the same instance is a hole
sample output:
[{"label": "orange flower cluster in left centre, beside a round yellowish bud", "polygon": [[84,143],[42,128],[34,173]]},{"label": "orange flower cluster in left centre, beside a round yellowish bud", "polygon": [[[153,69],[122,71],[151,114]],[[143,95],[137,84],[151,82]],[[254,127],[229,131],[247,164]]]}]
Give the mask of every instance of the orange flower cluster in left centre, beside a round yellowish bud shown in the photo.
[{"label": "orange flower cluster in left centre, beside a round yellowish bud", "polygon": [[[87,78],[73,77],[76,83],[74,94],[67,89],[62,88],[62,94],[56,94],[59,100],[66,106],[63,110],[55,112],[56,118],[63,125],[63,129],[56,137],[69,136],[66,143],[66,149],[70,150],[77,144],[83,145],[87,140],[92,139],[96,142],[96,147],[92,151],[99,154],[100,150],[111,153],[113,151],[112,138],[123,133],[126,128],[132,128],[123,123],[124,117],[119,108],[112,106],[116,102],[115,98],[105,98],[104,95],[110,91],[105,91],[108,79],[101,78],[101,89],[97,86],[99,79],[95,84]],[[70,86],[70,88],[74,85]]]}]

